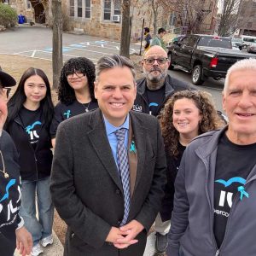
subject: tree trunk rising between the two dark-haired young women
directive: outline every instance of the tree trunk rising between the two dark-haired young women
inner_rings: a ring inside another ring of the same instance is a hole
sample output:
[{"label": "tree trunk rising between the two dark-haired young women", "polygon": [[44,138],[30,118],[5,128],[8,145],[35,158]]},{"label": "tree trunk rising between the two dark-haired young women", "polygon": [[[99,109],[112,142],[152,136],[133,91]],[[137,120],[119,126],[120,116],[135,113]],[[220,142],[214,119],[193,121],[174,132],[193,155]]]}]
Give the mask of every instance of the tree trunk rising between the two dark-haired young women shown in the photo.
[{"label": "tree trunk rising between the two dark-haired young women", "polygon": [[62,12],[61,0],[52,0],[53,34],[52,34],[52,68],[53,68],[53,88],[57,89],[61,68],[62,57]]}]

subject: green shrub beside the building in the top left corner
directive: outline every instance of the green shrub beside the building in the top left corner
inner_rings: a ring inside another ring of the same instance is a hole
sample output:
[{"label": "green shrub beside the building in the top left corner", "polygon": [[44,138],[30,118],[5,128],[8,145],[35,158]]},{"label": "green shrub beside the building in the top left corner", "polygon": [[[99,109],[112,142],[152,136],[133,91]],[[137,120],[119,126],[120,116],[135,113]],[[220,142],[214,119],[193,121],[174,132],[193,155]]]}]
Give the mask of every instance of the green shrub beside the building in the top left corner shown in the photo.
[{"label": "green shrub beside the building in the top left corner", "polygon": [[8,4],[0,3],[0,25],[12,27],[17,24],[17,13]]}]

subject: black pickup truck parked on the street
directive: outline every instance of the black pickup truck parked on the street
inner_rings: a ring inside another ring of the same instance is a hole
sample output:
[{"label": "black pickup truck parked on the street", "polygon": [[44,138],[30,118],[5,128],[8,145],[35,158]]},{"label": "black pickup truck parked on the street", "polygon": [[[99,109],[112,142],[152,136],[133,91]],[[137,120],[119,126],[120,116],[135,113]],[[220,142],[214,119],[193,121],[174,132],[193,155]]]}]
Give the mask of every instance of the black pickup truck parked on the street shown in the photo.
[{"label": "black pickup truck parked on the street", "polygon": [[178,67],[192,74],[193,84],[205,79],[224,79],[229,67],[236,61],[255,55],[232,49],[231,38],[209,35],[181,37],[168,49],[169,69]]}]

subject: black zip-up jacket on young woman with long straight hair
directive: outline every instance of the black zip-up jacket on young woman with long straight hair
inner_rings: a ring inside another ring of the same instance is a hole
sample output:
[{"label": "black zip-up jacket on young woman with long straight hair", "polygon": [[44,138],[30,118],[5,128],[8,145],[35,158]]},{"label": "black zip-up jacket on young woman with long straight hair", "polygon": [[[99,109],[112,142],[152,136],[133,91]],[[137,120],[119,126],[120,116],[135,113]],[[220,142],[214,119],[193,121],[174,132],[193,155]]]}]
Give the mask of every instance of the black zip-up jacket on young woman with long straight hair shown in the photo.
[{"label": "black zip-up jacket on young woman with long straight hair", "polygon": [[7,126],[6,129],[13,138],[20,154],[20,176],[23,180],[36,181],[50,175],[52,152],[49,127],[42,121],[37,148],[34,150],[22,125],[20,116]]}]

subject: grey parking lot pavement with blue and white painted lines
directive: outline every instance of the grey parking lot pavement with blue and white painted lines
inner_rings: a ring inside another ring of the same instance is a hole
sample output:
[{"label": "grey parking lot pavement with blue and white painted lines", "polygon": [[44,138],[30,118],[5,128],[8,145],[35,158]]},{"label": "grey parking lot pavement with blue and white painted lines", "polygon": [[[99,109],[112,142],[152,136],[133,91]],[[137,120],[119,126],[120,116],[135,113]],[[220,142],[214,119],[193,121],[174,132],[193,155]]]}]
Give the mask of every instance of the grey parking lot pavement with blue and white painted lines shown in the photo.
[{"label": "grey parking lot pavement with blue and white painted lines", "polygon": [[[2,44],[3,43],[3,44]],[[96,61],[102,55],[119,54],[119,42],[84,34],[63,33],[63,61],[71,57],[87,57]],[[130,54],[139,53],[140,45],[131,44]],[[52,31],[47,27],[20,26],[1,32],[0,53],[52,60]]]}]

